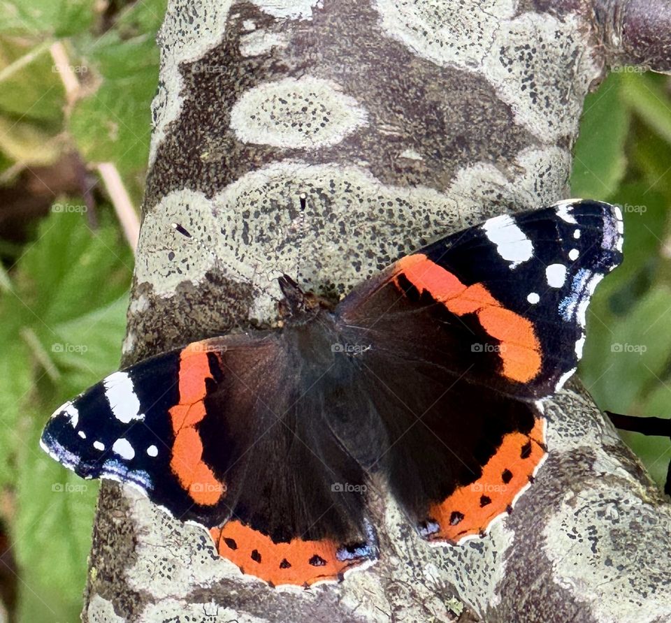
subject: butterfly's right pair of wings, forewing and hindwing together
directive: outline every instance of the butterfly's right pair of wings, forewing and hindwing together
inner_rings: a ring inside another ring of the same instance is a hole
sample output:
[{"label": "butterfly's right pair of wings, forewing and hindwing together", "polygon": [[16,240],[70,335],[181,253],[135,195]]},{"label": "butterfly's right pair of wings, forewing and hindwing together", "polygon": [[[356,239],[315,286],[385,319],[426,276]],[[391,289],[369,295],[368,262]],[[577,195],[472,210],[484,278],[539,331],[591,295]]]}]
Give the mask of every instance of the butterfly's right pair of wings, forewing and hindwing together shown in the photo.
[{"label": "butterfly's right pair of wings, forewing and hindwing together", "polygon": [[562,203],[435,242],[338,306],[384,422],[377,467],[423,536],[482,532],[526,488],[545,455],[535,401],[575,371],[619,261],[619,211]]}]

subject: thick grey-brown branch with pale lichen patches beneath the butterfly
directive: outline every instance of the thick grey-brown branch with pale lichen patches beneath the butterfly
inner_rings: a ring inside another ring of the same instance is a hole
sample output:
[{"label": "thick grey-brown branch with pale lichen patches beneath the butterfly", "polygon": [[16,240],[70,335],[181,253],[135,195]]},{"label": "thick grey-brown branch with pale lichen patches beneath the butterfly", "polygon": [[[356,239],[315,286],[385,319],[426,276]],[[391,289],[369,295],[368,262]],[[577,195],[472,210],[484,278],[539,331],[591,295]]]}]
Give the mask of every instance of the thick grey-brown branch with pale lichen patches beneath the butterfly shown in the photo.
[{"label": "thick grey-brown branch with pale lichen patches beneath the butterfly", "polygon": [[[433,237],[565,198],[607,64],[670,68],[655,20],[668,3],[171,1],[125,362],[270,323],[281,272],[337,297]],[[577,383],[547,416],[549,460],[491,534],[430,548],[376,488],[380,561],[308,591],[241,576],[106,483],[84,619],[670,620],[670,507]]]}]

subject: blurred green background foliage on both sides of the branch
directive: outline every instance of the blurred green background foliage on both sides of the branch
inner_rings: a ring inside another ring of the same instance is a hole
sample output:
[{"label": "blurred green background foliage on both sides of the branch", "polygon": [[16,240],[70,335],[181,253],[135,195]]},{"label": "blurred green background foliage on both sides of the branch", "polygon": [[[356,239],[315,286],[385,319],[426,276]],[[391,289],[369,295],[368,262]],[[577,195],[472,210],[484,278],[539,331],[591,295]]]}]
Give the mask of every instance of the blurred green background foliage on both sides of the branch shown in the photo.
[{"label": "blurred green background foliage on both sides of the branch", "polygon": [[[0,186],[76,151],[87,166],[115,163],[140,203],[165,4],[3,2]],[[81,82],[73,102],[55,71],[56,41]],[[626,219],[626,261],[591,305],[580,374],[603,409],[669,416],[668,80],[610,75],[586,101],[575,156],[573,195],[619,203]],[[87,190],[53,197],[27,240],[0,240],[0,519],[22,623],[78,620],[96,484],[43,455],[38,435],[55,406],[116,369],[124,336],[133,258],[104,200],[87,218]],[[671,442],[623,436],[663,483]]]}]

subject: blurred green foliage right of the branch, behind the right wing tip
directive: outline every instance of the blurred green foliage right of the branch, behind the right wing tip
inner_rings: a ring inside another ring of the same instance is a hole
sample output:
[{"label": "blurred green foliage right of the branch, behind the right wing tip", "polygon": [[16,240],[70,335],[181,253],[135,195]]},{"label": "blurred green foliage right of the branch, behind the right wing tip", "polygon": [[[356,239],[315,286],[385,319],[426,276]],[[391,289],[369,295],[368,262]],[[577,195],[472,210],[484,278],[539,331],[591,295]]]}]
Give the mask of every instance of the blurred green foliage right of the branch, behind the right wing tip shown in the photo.
[{"label": "blurred green foliage right of the branch, behind the right wing tip", "polygon": [[[589,307],[579,368],[601,409],[671,416],[671,91],[668,78],[622,68],[585,102],[574,196],[621,205],[624,262]],[[663,485],[671,441],[621,433]]]}]

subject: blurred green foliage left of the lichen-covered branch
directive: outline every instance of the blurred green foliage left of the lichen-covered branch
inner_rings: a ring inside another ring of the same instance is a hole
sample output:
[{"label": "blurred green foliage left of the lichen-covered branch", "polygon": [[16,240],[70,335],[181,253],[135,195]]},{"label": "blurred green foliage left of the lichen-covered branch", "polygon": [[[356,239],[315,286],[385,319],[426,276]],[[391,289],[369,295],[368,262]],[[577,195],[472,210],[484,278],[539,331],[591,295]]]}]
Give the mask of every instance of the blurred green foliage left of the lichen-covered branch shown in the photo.
[{"label": "blurred green foliage left of the lichen-covered branch", "polygon": [[[78,152],[85,166],[113,162],[139,205],[166,0],[110,4],[3,2],[1,185],[20,185],[37,167],[48,179],[42,172]],[[80,82],[74,101],[52,57],[56,42]],[[28,240],[0,241],[0,519],[26,623],[79,620],[98,490],[45,459],[41,427],[55,406],[117,369],[124,337],[133,257],[103,198],[89,213],[82,198],[92,186],[85,178],[79,192],[54,191]]]}]

